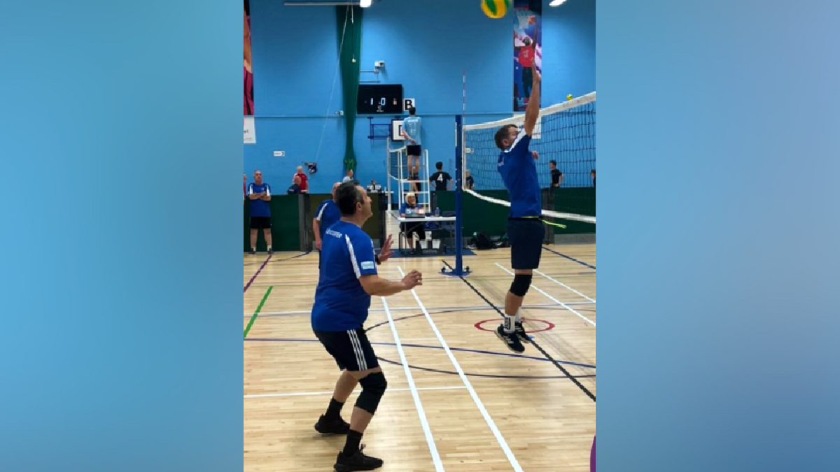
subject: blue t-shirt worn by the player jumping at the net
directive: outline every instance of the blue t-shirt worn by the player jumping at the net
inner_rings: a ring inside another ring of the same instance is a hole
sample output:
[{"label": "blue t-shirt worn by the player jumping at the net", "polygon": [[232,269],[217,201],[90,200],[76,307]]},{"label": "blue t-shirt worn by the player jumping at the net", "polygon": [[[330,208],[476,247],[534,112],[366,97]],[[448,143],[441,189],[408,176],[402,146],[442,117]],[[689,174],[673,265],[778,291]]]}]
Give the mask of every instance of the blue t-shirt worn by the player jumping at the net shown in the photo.
[{"label": "blue t-shirt worn by the player jumping at the net", "polygon": [[531,137],[522,128],[511,148],[499,154],[499,173],[511,197],[511,218],[538,217],[543,214],[537,165],[528,150],[530,143]]}]

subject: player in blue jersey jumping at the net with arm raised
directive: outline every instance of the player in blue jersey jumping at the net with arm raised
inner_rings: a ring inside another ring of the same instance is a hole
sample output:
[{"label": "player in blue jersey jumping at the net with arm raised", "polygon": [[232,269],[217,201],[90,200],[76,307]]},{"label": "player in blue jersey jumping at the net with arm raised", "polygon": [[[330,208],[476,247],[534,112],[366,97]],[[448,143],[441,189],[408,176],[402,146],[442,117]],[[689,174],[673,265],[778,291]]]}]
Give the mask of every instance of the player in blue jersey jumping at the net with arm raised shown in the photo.
[{"label": "player in blue jersey jumping at the net with arm raised", "polygon": [[531,286],[533,270],[539,267],[545,236],[537,165],[534,164],[537,155],[528,149],[539,117],[539,81],[539,72],[534,68],[531,97],[522,128],[508,124],[496,132],[496,146],[501,149],[498,170],[511,199],[507,237],[511,242],[511,265],[515,274],[505,296],[505,320],[496,329],[496,336],[516,353],[525,351],[523,341],[530,342],[522,327],[519,307]]}]

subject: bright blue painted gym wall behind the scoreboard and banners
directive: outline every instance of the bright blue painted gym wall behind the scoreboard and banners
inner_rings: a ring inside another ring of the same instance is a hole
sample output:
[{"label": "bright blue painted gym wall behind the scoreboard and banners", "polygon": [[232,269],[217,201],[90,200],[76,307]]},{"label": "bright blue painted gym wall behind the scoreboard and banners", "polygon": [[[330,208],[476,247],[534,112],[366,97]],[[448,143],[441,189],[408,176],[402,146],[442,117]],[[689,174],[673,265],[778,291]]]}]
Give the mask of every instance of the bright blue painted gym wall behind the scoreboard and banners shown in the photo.
[{"label": "bright blue painted gym wall behind the scoreboard and banners", "polygon": [[[361,69],[385,60],[381,83],[402,83],[405,96],[417,99],[430,165],[441,160],[454,173],[464,71],[467,123],[512,115],[512,21],[487,18],[475,0],[381,0],[365,10]],[[244,145],[244,171],[250,180],[260,168],[276,191],[285,191],[297,165],[318,156],[311,191],[328,192],[343,176],[344,159],[344,118],[334,115],[343,108],[335,8],[251,0],[251,37],[257,144]],[[543,2],[543,70],[543,106],[596,89],[594,0],[559,8]],[[367,116],[357,118],[356,177],[384,183],[386,141],[368,139],[368,123]],[[286,157],[273,157],[274,150]]]}]

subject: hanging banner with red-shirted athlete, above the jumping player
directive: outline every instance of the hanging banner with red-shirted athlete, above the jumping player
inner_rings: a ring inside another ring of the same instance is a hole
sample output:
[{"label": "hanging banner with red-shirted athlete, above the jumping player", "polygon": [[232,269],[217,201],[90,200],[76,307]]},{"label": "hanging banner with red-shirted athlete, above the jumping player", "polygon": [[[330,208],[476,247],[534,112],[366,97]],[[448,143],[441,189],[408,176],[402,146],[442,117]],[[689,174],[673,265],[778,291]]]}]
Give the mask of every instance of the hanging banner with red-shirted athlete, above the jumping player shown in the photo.
[{"label": "hanging banner with red-shirted athlete, above the jumping player", "polygon": [[513,13],[513,111],[524,112],[531,96],[531,67],[543,71],[543,2],[514,0]]}]

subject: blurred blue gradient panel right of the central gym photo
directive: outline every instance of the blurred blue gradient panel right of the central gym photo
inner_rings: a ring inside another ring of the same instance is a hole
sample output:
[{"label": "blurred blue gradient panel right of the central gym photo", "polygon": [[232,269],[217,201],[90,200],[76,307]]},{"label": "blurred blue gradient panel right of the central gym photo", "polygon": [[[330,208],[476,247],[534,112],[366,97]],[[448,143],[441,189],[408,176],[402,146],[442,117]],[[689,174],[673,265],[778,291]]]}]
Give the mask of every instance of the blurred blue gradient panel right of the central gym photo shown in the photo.
[{"label": "blurred blue gradient panel right of the central gym photo", "polygon": [[599,1],[601,472],[838,469],[838,18]]}]

